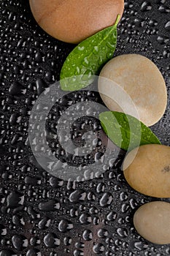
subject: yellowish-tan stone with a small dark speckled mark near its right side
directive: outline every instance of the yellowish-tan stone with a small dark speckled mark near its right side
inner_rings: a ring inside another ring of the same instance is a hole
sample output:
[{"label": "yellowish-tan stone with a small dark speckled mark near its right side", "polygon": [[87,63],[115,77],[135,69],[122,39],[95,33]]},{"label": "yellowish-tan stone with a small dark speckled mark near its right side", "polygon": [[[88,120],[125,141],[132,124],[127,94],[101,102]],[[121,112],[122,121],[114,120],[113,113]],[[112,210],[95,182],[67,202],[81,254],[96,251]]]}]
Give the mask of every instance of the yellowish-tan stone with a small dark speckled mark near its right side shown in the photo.
[{"label": "yellowish-tan stone with a small dark speckled mark near its right side", "polygon": [[170,197],[170,147],[158,144],[139,146],[123,161],[123,173],[136,191],[152,197]]}]

